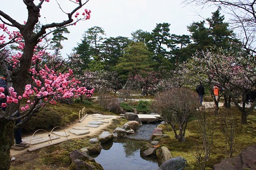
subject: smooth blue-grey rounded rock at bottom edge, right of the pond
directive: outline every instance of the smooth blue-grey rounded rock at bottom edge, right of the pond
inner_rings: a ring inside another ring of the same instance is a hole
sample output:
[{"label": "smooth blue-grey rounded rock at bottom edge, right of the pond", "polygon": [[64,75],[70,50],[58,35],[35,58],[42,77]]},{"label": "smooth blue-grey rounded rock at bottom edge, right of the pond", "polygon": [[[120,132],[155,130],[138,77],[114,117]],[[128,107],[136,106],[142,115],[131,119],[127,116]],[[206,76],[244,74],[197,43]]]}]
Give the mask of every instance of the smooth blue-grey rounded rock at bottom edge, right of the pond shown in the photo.
[{"label": "smooth blue-grey rounded rock at bottom edge, right of the pond", "polygon": [[164,162],[158,170],[182,170],[186,167],[187,160],[182,158],[181,156],[168,159]]}]

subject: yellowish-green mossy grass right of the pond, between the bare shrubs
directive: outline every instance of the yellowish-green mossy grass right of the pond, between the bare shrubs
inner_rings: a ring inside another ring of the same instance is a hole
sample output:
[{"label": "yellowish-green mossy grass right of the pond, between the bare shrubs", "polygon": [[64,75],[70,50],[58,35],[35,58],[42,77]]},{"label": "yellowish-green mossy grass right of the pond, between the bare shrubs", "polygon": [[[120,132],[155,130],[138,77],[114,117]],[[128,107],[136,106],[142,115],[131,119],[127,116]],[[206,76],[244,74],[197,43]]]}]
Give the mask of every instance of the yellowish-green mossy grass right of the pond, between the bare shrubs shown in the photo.
[{"label": "yellowish-green mossy grass right of the pond, between the bare shrubs", "polygon": [[[221,109],[220,109],[221,112]],[[247,117],[248,124],[242,125],[240,123],[241,113],[236,108],[230,109],[234,115],[236,115],[235,124],[236,124],[236,145],[235,152],[233,156],[240,154],[240,152],[251,145],[255,145],[256,141],[256,115],[253,112]],[[208,112],[208,121],[214,122],[214,137],[213,137],[213,148],[210,154],[210,160],[207,162],[206,169],[212,169],[214,164],[220,163],[223,159],[226,158],[225,154],[225,137],[221,133],[220,125],[216,116],[213,112]],[[196,154],[196,144],[200,144],[200,135],[199,130],[196,126],[196,120],[191,120],[188,123],[186,130],[185,138],[186,142],[180,143],[174,138],[174,132],[170,130],[170,127],[163,127],[164,133],[170,135],[171,139],[163,139],[160,143],[160,146],[166,146],[172,153],[172,156],[183,156],[188,161],[186,169],[199,169],[195,154]]]}]

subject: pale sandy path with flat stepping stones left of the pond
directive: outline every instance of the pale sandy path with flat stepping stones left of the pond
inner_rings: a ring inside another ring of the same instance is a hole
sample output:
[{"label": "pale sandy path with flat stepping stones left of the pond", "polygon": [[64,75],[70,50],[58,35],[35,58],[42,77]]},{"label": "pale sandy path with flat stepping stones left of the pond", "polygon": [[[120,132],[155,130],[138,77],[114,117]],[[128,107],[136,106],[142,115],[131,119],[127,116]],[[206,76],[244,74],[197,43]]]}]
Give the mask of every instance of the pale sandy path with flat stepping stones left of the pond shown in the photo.
[{"label": "pale sandy path with flat stepping stones left of the pond", "polygon": [[101,129],[108,126],[117,116],[105,116],[102,114],[89,114],[81,122],[77,122],[68,128],[59,126],[53,128],[52,131],[38,130],[34,135],[23,137],[22,141],[28,143],[29,146],[19,147],[13,146],[11,156],[22,152],[37,150],[38,148],[55,145],[57,143],[67,141],[68,139],[85,137],[93,135]]}]

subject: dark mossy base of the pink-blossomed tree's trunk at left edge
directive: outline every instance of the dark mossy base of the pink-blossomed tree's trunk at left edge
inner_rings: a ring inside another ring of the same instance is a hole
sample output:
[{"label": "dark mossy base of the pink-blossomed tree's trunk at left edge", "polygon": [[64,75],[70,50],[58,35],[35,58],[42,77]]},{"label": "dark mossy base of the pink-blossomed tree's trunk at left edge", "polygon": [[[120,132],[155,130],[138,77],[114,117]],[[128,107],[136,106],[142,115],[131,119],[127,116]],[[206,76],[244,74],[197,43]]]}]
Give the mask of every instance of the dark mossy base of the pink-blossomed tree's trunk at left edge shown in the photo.
[{"label": "dark mossy base of the pink-blossomed tree's trunk at left edge", "polygon": [[0,120],[0,169],[8,170],[11,165],[10,149],[14,143],[13,129],[14,122],[6,121],[4,118]]}]

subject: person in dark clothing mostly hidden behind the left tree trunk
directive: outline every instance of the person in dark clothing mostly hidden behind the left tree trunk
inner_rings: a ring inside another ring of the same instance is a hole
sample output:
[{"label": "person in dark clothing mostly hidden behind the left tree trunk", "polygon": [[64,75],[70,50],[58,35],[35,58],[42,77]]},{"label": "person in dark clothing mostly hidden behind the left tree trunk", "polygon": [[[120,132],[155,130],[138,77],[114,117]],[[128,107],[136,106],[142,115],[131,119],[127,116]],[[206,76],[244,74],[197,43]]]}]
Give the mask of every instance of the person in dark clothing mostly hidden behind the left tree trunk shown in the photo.
[{"label": "person in dark clothing mostly hidden behind the left tree trunk", "polygon": [[[5,81],[5,76],[0,75],[0,87],[5,88],[5,91],[3,92],[3,94],[5,94],[5,96],[9,95],[9,91],[7,88],[7,83]],[[7,99],[6,97],[3,99],[0,99],[0,107],[2,108],[2,111],[5,111],[6,107],[2,107],[2,103],[6,103]],[[18,115],[19,117],[19,115]],[[18,124],[20,122],[20,120],[15,122],[15,125]],[[15,145],[16,146],[26,146],[27,143],[22,141],[22,133],[21,133],[21,128],[17,128],[14,130],[14,138],[15,138]]]}]

